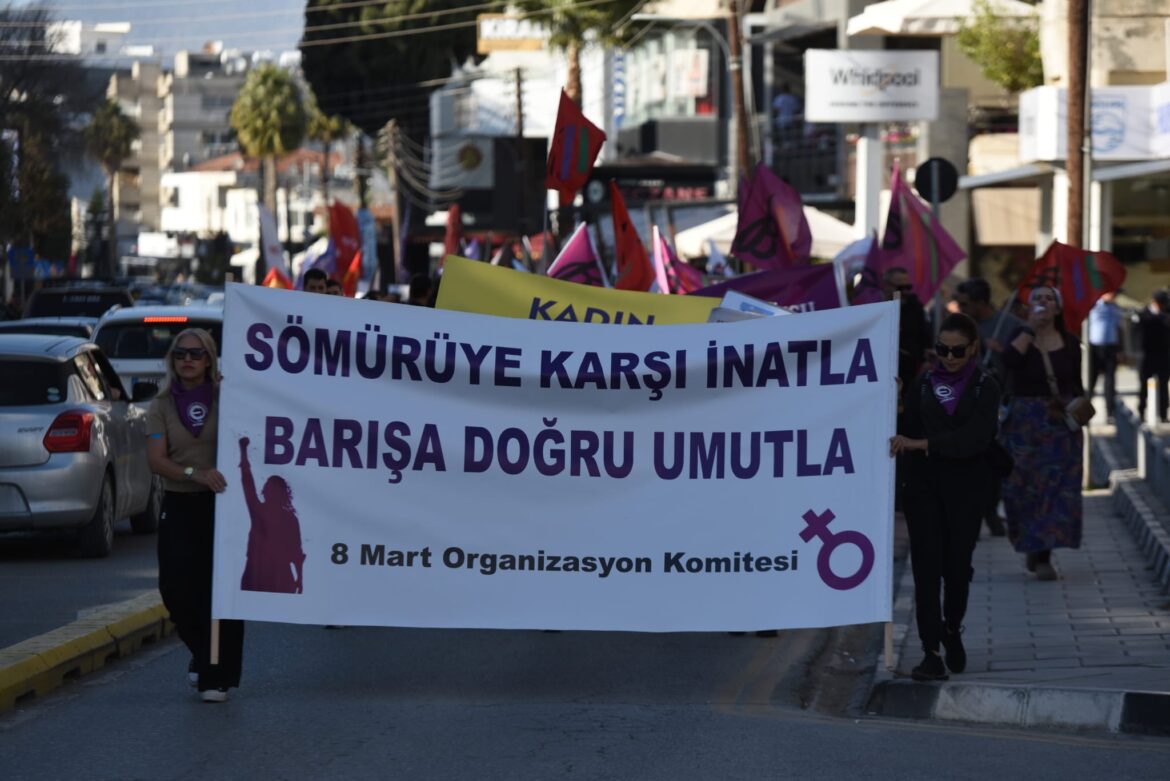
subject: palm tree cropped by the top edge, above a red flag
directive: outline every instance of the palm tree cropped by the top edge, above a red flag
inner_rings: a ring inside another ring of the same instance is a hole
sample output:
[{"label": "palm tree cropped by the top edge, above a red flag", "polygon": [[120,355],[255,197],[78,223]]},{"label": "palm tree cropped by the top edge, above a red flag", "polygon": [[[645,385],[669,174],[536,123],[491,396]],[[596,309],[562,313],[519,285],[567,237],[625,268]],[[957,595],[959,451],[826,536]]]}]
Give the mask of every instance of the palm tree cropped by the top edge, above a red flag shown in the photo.
[{"label": "palm tree cropped by the top edge, above a red flag", "polygon": [[[580,105],[580,53],[591,36],[605,46],[621,46],[638,29],[629,16],[642,0],[614,0],[598,6],[584,6],[580,0],[517,0],[516,7],[534,14],[549,28],[549,43],[563,49],[569,61],[565,92]],[[619,27],[620,25],[620,27]]]}]

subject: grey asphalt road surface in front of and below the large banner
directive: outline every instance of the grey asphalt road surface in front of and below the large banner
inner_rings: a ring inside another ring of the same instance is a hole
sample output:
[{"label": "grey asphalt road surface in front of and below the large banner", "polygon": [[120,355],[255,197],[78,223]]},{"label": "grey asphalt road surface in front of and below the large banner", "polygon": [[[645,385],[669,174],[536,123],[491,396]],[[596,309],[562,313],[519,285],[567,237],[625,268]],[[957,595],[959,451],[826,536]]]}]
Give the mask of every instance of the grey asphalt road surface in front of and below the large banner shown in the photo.
[{"label": "grey asphalt road surface in front of and below the large banner", "polygon": [[0,717],[0,777],[1164,779],[1170,741],[838,719],[799,638],[253,623],[208,705],[174,641]]}]

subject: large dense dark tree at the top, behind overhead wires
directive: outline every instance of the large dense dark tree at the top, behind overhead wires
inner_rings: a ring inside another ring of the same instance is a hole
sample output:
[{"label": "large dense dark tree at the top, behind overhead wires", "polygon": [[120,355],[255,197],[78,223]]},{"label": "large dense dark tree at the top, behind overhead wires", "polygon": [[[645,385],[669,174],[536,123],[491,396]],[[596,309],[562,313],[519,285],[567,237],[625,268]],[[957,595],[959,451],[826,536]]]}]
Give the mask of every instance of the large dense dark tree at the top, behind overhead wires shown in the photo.
[{"label": "large dense dark tree at the top, behind overhead wires", "polygon": [[[301,68],[328,116],[374,137],[391,119],[412,138],[428,127],[427,82],[475,54],[477,9],[466,0],[308,0]],[[326,41],[336,41],[326,43]],[[350,39],[350,40],[346,40]]]}]

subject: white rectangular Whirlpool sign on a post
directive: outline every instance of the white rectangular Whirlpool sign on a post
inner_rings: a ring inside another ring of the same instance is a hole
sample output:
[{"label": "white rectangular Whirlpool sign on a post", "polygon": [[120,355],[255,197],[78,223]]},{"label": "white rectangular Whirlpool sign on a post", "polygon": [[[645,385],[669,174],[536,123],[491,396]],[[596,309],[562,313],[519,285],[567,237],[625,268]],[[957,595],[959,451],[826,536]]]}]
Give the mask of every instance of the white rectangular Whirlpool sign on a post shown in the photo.
[{"label": "white rectangular Whirlpool sign on a post", "polygon": [[807,122],[937,118],[937,51],[805,51]]}]

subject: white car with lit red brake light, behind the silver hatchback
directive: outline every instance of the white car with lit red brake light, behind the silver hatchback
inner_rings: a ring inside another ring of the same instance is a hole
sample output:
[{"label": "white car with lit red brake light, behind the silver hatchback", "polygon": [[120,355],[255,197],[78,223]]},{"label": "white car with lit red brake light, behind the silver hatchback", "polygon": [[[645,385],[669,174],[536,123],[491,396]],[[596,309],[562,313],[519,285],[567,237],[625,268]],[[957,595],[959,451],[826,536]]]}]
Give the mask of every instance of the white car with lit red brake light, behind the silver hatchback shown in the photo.
[{"label": "white car with lit red brake light, behind the silver hatchback", "polygon": [[[220,346],[222,306],[133,306],[118,309],[97,324],[94,341],[102,348],[124,386],[161,385],[166,378],[166,350],[186,329],[205,329]],[[222,350],[222,347],[220,347]]]}]

